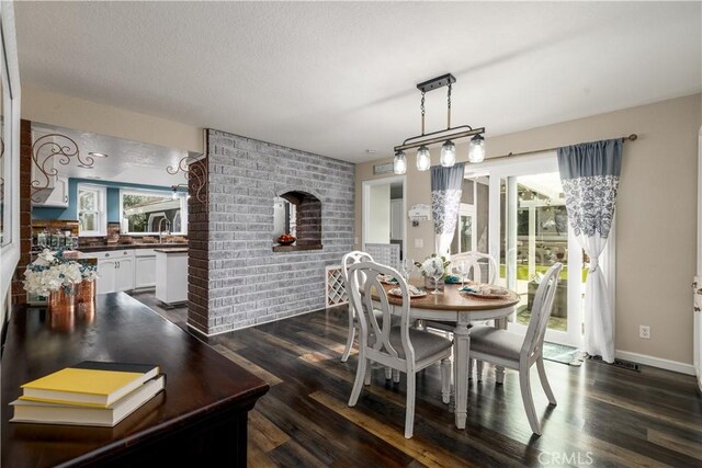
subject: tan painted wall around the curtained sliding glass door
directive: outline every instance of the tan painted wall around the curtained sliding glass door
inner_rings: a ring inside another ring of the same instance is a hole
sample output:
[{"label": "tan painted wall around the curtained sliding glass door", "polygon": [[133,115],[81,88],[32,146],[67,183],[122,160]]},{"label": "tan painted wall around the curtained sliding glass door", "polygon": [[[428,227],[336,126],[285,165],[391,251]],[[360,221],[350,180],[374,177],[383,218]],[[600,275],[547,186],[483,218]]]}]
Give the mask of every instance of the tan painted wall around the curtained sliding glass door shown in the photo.
[{"label": "tan painted wall around the curtained sliding glass door", "polygon": [[[698,132],[702,95],[664,101],[487,139],[488,158],[635,133],[624,146],[616,212],[616,349],[692,364],[690,283],[695,272]],[[489,128],[488,128],[489,130]],[[411,132],[410,132],[411,133]],[[437,152],[432,159],[437,162]],[[458,160],[467,151],[458,148]],[[386,162],[387,160],[383,161]],[[373,164],[356,167],[356,237],[361,183],[375,179]],[[408,155],[407,206],[430,203],[429,172]],[[431,222],[407,228],[408,254],[433,249]],[[424,249],[415,249],[422,238]],[[650,326],[650,340],[638,326]]]}]

